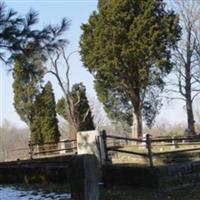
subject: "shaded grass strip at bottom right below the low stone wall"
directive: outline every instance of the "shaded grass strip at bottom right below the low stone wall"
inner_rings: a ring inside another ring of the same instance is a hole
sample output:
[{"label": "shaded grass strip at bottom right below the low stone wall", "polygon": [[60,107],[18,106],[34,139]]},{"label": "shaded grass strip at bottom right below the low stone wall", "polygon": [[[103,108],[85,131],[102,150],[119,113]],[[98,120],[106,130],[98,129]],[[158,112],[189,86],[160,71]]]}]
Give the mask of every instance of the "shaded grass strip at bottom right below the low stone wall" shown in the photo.
[{"label": "shaded grass strip at bottom right below the low stone wall", "polygon": [[200,200],[200,188],[158,192],[146,188],[112,187],[102,188],[100,200]]}]

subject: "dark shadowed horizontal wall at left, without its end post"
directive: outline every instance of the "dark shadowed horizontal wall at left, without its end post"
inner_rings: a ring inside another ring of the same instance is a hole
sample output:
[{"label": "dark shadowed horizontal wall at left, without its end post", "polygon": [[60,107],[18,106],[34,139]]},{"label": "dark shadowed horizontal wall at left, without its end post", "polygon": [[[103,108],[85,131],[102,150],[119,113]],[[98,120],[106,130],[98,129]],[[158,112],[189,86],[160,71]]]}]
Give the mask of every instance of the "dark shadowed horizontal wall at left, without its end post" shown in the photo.
[{"label": "dark shadowed horizontal wall at left, without its end post", "polygon": [[68,183],[71,156],[0,163],[0,184]]}]

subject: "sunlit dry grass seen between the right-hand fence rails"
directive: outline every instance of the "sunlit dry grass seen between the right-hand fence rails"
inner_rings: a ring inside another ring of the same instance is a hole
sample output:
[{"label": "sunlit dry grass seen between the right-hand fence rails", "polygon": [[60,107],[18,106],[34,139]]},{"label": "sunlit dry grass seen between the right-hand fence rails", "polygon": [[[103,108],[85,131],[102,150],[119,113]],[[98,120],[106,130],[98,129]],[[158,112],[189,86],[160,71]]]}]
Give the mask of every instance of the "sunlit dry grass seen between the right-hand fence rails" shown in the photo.
[{"label": "sunlit dry grass seen between the right-hand fence rails", "polygon": [[[200,151],[189,151],[189,152],[183,152],[179,153],[180,150],[186,150],[186,149],[194,149],[194,148],[200,148],[200,143],[181,143],[177,146],[173,144],[155,144],[152,147],[153,153],[166,153],[168,154],[162,155],[162,156],[154,156],[154,165],[165,165],[170,164],[171,160],[174,160],[176,158],[177,162],[186,162],[188,160],[190,161],[197,161],[200,160]],[[145,153],[147,154],[147,149],[145,145],[125,145],[123,148],[120,148],[120,150],[130,151],[130,152],[138,152],[138,153]],[[130,163],[130,164],[141,164],[141,165],[148,165],[149,160],[147,157],[142,157],[138,155],[132,155],[127,153],[116,153],[113,152],[112,154],[112,162],[113,163]],[[180,158],[180,159],[179,159]],[[173,163],[173,162],[172,162]]]}]

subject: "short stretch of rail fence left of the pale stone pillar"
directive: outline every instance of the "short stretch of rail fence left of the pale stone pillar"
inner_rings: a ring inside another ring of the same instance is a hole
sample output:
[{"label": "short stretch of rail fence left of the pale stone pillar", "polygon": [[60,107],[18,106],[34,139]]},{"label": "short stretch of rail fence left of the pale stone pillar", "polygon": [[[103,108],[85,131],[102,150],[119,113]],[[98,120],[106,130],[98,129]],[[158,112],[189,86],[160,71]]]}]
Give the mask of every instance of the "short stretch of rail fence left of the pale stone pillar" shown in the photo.
[{"label": "short stretch of rail fence left of the pale stone pillar", "polygon": [[30,159],[34,157],[52,156],[58,154],[75,154],[77,152],[76,140],[64,140],[48,143],[29,143]]}]

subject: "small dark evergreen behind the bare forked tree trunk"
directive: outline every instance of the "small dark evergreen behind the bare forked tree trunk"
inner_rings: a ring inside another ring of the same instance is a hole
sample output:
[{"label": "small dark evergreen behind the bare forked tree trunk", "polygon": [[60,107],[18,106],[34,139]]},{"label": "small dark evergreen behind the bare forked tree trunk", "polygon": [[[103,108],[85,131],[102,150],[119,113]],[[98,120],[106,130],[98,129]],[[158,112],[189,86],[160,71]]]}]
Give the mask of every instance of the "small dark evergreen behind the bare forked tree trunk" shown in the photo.
[{"label": "small dark evergreen behind the bare forked tree trunk", "polygon": [[[93,118],[86,96],[86,88],[82,83],[74,84],[69,93],[74,105],[74,116],[78,131],[87,131],[95,129]],[[57,102],[57,112],[67,120],[66,102],[61,98]]]}]

